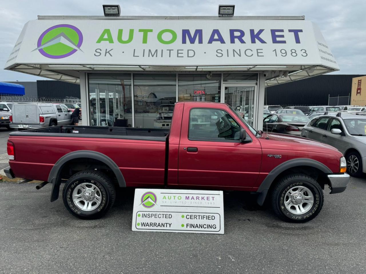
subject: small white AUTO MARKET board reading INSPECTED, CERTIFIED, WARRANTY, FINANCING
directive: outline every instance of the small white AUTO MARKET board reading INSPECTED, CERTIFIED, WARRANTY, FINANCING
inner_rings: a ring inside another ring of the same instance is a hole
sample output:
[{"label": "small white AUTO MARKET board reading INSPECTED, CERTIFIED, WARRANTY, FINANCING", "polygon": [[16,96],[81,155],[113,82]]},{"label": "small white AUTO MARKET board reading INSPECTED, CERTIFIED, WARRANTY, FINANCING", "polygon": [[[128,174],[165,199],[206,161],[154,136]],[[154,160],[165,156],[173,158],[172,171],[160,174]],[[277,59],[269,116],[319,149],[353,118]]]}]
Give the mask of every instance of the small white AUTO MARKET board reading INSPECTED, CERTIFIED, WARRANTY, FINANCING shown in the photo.
[{"label": "small white AUTO MARKET board reading INSPECTED, CERTIFIED, WARRANTY, FINANCING", "polygon": [[132,231],[224,234],[223,191],[136,189]]}]

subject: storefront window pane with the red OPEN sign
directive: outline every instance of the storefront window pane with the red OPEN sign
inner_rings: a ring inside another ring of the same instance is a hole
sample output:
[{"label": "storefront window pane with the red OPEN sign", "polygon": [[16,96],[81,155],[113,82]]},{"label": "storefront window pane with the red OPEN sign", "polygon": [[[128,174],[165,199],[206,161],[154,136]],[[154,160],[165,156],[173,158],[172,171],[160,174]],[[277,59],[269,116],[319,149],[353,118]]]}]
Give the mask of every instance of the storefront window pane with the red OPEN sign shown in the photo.
[{"label": "storefront window pane with the red OPEN sign", "polygon": [[220,102],[221,74],[179,74],[178,101]]}]

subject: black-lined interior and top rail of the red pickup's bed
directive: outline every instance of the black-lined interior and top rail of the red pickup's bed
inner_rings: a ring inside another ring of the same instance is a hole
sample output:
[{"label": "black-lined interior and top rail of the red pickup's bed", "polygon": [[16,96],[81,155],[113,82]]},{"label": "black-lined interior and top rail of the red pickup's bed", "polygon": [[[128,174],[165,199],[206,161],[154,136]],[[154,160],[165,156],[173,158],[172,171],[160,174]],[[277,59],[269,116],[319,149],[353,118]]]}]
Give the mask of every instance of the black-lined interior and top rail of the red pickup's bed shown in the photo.
[{"label": "black-lined interior and top rail of the red pickup's bed", "polygon": [[55,136],[84,138],[122,138],[132,140],[165,141],[169,130],[147,128],[122,128],[106,126],[52,126],[12,132],[10,136]]}]

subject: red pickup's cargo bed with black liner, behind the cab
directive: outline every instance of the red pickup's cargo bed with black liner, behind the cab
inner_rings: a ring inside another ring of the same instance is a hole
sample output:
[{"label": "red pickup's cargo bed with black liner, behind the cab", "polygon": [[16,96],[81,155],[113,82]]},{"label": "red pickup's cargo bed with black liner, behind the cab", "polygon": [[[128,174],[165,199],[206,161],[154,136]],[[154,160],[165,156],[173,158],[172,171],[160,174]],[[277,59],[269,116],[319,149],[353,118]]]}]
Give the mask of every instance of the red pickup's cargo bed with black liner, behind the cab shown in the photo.
[{"label": "red pickup's cargo bed with black liner, behind the cab", "polygon": [[20,178],[47,181],[61,157],[94,151],[116,163],[127,186],[163,185],[167,134],[162,129],[72,125],[12,132],[9,141],[22,153],[17,153],[10,166]]}]

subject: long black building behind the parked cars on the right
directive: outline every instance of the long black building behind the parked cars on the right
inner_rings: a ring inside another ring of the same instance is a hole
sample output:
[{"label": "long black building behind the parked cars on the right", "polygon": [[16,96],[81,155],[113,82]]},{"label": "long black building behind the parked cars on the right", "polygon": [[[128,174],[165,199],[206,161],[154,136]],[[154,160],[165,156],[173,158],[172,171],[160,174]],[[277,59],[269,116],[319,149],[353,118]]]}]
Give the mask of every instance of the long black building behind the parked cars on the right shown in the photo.
[{"label": "long black building behind the parked cars on the right", "polygon": [[283,107],[321,106],[328,105],[329,98],[330,105],[349,104],[352,78],[359,76],[363,75],[320,75],[268,87],[264,99],[265,104]]}]

